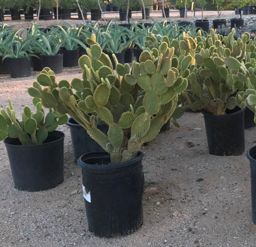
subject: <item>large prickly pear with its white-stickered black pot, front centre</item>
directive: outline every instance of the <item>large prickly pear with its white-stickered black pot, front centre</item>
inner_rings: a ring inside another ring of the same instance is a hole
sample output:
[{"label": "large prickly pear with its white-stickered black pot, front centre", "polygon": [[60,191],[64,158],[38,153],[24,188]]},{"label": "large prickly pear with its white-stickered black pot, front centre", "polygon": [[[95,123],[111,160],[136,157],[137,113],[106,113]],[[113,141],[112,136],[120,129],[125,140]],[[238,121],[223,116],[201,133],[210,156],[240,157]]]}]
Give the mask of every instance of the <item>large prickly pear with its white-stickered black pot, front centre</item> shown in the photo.
[{"label": "large prickly pear with its white-stickered black pot, front centre", "polygon": [[[88,55],[79,59],[83,78],[56,82],[54,89],[44,87],[40,98],[46,107],[50,103],[57,112],[69,114],[106,151],[78,159],[89,229],[101,236],[127,234],[143,222],[140,147],[175,110],[192,57],[184,58],[180,67],[172,63],[174,48],[162,42],[158,49],[143,51],[132,69],[116,60],[115,73],[95,34],[86,41]],[[107,134],[97,128],[97,118],[109,126]],[[95,183],[96,176],[102,180]]]}]

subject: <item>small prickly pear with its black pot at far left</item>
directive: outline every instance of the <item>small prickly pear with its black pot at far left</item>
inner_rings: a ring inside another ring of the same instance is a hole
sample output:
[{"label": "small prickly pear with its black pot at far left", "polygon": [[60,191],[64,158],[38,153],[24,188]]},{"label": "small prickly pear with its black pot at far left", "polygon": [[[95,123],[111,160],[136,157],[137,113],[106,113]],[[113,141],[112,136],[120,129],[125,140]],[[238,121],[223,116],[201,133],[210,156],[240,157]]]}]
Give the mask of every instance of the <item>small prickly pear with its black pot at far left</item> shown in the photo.
[{"label": "small prickly pear with its black pot at far left", "polygon": [[[38,80],[44,80],[43,77],[41,74]],[[34,86],[37,90],[30,89],[30,94],[40,96],[40,84],[34,82]],[[36,112],[24,107],[22,120],[16,118],[11,99],[7,109],[0,110],[0,140],[6,145],[14,186],[19,190],[45,190],[56,187],[64,179],[64,133],[56,128],[66,122],[67,115],[53,109],[46,113],[39,101],[33,100]]]}]

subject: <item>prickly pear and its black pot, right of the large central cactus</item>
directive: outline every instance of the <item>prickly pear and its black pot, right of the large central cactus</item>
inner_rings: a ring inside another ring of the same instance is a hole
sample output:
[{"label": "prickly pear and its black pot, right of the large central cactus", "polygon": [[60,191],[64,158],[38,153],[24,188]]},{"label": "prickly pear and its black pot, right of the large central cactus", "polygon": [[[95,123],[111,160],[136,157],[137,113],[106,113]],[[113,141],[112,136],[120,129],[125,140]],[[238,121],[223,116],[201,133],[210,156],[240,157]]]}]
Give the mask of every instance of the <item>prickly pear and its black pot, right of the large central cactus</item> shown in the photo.
[{"label": "prickly pear and its black pot, right of the large central cactus", "polygon": [[[190,68],[189,86],[182,96],[185,106],[202,110],[209,153],[213,155],[240,155],[244,151],[244,108],[235,107],[235,97],[231,94],[243,86],[234,76],[239,71],[243,77],[249,34],[244,33],[236,41],[234,32],[232,29],[228,37],[223,37],[211,29],[205,42],[201,42],[199,33],[196,40],[200,45],[190,46],[194,47],[195,59]],[[189,52],[184,40],[179,47]]]}]

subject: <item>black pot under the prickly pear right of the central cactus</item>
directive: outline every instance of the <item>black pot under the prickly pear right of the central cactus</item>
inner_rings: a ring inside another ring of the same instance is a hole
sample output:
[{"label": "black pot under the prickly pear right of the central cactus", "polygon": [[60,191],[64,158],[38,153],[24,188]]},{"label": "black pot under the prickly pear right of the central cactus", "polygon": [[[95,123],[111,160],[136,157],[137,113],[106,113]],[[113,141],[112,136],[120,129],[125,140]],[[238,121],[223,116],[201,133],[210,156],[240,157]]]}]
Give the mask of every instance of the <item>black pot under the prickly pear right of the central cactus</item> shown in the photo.
[{"label": "black pot under the prickly pear right of the central cactus", "polygon": [[226,115],[213,115],[202,111],[209,154],[241,155],[244,152],[244,110],[235,107]]}]

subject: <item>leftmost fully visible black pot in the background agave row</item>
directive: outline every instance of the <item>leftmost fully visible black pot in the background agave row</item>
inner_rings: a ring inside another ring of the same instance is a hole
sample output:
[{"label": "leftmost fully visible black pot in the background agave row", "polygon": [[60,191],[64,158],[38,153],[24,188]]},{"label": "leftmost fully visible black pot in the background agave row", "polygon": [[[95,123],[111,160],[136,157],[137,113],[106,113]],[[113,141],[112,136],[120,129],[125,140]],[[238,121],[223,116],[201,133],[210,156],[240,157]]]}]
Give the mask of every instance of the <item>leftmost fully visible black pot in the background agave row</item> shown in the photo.
[{"label": "leftmost fully visible black pot in the background agave row", "polygon": [[7,58],[7,65],[12,78],[31,75],[31,60],[27,57]]}]

